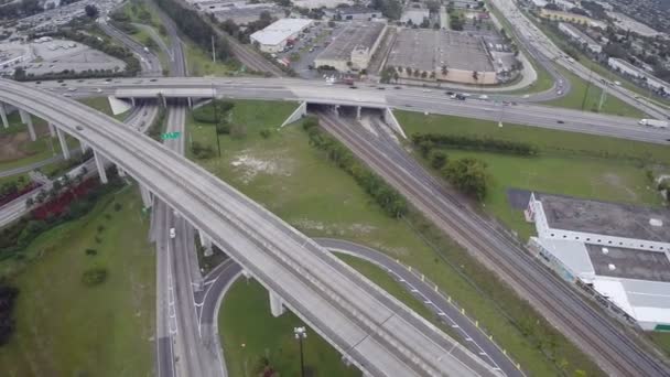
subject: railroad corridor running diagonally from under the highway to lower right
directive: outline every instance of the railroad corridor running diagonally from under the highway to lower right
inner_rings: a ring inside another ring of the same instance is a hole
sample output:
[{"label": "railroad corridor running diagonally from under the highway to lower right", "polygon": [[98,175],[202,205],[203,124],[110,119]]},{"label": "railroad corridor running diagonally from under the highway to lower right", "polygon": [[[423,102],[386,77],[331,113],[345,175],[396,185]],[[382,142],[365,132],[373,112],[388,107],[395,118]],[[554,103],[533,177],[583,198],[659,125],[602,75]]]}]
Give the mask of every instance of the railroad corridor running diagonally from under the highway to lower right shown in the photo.
[{"label": "railroad corridor running diagonally from under the highway to lower right", "polygon": [[[443,229],[462,246],[484,259],[493,270],[502,272],[500,276],[517,289],[521,297],[540,303],[545,315],[553,317],[553,322],[559,322],[564,333],[591,348],[596,362],[606,360],[608,365],[598,363],[606,371],[616,376],[670,376],[666,365],[648,355],[612,321],[597,313],[566,283],[558,280],[552,272],[500,234],[490,223],[460,204],[456,197],[441,188],[441,184],[399,147],[389,147],[388,143],[380,147],[371,141],[374,137],[359,134],[367,133],[363,128],[360,131],[354,130],[331,115],[321,114],[321,118],[331,133],[403,193],[410,202],[420,209],[423,208],[437,225],[442,223]],[[401,162],[400,166],[396,163],[398,160]],[[559,298],[551,300],[548,299],[550,297]],[[598,324],[606,334],[594,328],[594,324]],[[618,342],[618,347],[612,345],[613,340]]]}]

